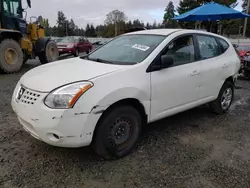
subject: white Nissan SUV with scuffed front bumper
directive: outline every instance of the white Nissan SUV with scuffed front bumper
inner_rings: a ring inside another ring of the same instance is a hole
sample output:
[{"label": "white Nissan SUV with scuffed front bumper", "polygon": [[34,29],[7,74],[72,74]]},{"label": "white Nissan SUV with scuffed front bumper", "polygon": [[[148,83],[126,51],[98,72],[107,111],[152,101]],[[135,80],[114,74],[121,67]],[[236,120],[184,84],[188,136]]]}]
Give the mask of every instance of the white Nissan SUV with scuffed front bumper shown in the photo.
[{"label": "white Nissan SUV with scuffed front bumper", "polygon": [[119,36],[87,56],[39,66],[18,82],[12,107],[33,137],[92,145],[103,158],[135,146],[144,123],[209,103],[226,112],[240,60],[224,37],[182,29]]}]

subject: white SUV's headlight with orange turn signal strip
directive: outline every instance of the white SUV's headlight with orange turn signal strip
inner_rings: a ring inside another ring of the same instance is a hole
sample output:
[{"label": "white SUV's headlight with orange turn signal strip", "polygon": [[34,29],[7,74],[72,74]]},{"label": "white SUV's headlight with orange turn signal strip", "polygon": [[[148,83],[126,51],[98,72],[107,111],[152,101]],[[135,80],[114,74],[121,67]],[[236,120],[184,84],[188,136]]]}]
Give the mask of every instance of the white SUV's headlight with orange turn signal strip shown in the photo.
[{"label": "white SUV's headlight with orange turn signal strip", "polygon": [[45,105],[55,109],[73,108],[80,96],[93,87],[91,82],[77,82],[52,91],[44,100]]}]

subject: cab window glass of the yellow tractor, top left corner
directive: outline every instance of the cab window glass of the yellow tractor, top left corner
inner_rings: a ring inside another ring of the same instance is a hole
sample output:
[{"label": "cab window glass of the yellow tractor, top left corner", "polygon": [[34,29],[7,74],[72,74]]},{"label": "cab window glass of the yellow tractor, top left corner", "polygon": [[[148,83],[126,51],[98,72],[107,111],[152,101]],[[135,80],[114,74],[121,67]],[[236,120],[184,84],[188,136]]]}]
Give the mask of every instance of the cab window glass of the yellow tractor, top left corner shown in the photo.
[{"label": "cab window glass of the yellow tractor, top left corner", "polygon": [[21,0],[4,0],[4,15],[22,17]]}]

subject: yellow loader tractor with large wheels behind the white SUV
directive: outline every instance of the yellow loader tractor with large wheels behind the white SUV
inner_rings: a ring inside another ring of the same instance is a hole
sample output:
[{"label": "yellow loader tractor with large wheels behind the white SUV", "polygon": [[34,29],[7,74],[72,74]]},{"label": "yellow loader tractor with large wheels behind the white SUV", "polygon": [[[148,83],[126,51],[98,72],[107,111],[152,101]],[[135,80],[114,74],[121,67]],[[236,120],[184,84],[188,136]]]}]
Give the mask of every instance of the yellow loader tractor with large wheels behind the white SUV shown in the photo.
[{"label": "yellow loader tractor with large wheels behind the white SUV", "polygon": [[[28,7],[31,0],[27,0]],[[36,57],[42,64],[58,60],[57,45],[45,37],[40,24],[42,17],[31,17],[27,23],[23,17],[27,16],[26,9],[22,0],[0,0],[0,72],[17,72],[28,59]]]}]

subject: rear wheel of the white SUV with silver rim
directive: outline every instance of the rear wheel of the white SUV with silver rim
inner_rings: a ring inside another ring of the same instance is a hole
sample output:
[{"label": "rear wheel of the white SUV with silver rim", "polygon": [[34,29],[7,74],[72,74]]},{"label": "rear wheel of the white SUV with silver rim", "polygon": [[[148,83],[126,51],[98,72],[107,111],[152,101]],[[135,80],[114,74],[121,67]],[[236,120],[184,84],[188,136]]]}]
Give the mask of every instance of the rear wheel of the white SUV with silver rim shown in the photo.
[{"label": "rear wheel of the white SUV with silver rim", "polygon": [[[226,95],[226,92],[229,91],[231,91],[231,95],[229,95],[229,93],[228,95]],[[226,100],[225,95],[227,96],[228,100]],[[233,98],[234,98],[234,85],[232,82],[226,81],[220,90],[218,98],[211,103],[211,109],[213,110],[213,112],[217,114],[223,114],[229,110],[233,102]]]}]

